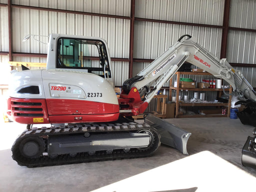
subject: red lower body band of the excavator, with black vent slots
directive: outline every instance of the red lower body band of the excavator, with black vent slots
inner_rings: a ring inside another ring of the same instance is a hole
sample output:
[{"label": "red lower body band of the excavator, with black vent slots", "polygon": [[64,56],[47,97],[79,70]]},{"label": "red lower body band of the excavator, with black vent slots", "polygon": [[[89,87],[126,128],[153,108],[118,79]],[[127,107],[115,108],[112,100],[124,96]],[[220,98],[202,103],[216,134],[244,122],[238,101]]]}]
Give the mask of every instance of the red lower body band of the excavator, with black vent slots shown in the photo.
[{"label": "red lower body band of the excavator, with black vent slots", "polygon": [[14,121],[25,124],[107,122],[119,117],[118,104],[74,99],[9,98],[8,110]]}]

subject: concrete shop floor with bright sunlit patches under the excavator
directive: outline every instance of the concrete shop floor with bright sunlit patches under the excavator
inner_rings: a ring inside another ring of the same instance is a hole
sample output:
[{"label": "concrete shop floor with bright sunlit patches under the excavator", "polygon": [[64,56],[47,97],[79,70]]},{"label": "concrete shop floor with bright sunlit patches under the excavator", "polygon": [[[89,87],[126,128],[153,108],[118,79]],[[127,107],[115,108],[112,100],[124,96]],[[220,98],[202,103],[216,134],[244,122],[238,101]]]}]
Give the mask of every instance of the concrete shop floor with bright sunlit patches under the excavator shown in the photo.
[{"label": "concrete shop floor with bright sunlit patches under the excavator", "polygon": [[253,191],[241,148],[253,127],[239,119],[165,119],[191,132],[189,155],[161,145],[151,157],[27,168],[10,147],[25,125],[0,124],[0,191]]}]

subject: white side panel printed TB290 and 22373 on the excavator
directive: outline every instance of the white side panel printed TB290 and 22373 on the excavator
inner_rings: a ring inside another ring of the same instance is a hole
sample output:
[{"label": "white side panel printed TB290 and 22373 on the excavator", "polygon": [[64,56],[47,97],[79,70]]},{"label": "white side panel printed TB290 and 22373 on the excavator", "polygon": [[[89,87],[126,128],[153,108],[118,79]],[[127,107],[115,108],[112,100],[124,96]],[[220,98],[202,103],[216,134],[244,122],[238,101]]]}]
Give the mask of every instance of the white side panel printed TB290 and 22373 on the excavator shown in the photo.
[{"label": "white side panel printed TB290 and 22373 on the excavator", "polygon": [[[85,99],[88,101],[118,104],[112,86],[107,80],[96,74],[60,69],[42,70],[42,79],[46,99]],[[54,84],[66,87],[66,89],[54,91],[51,87]]]}]

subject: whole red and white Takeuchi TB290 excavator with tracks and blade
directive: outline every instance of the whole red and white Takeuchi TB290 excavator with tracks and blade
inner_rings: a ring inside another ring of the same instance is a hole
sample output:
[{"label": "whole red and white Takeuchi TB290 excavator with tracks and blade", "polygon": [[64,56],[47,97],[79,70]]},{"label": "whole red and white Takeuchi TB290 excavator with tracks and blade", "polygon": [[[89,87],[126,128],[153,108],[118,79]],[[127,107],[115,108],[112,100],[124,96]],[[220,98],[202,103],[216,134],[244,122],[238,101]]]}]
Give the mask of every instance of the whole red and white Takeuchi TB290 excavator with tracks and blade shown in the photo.
[{"label": "whole red and white Takeuchi TB290 excavator with tracks and blade", "polygon": [[[255,102],[256,94],[240,71],[218,59],[190,35],[159,55],[122,85],[120,98],[106,42],[98,37],[51,34],[46,69],[11,71],[8,111],[27,124],[13,143],[12,158],[28,167],[151,155],[160,142],[184,154],[186,132],[152,115],[131,120],[185,62],[230,83]],[[150,87],[153,87],[150,89]],[[36,127],[36,124],[50,124]]]}]

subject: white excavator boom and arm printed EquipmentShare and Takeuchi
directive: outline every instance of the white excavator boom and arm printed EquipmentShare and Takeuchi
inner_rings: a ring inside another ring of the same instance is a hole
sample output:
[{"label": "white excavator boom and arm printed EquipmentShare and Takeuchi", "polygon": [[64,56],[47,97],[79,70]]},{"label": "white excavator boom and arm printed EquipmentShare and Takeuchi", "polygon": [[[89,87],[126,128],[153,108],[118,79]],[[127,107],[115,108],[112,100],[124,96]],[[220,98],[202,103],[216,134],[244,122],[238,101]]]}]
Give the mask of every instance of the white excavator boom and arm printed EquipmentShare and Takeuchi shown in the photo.
[{"label": "white excavator boom and arm printed EquipmentShare and Takeuchi", "polygon": [[[185,36],[188,36],[188,38],[183,39]],[[136,76],[127,79],[123,83],[123,94],[128,93],[132,87],[135,87],[139,91],[140,97],[144,95],[143,102],[149,103],[162,85],[173,76],[185,61],[217,78],[224,79],[232,85],[239,96],[256,102],[256,93],[242,73],[234,69],[225,58],[218,59],[211,54],[190,35],[181,36],[175,44],[159,55]],[[149,90],[150,86],[153,86],[152,90]]]}]

